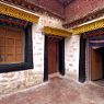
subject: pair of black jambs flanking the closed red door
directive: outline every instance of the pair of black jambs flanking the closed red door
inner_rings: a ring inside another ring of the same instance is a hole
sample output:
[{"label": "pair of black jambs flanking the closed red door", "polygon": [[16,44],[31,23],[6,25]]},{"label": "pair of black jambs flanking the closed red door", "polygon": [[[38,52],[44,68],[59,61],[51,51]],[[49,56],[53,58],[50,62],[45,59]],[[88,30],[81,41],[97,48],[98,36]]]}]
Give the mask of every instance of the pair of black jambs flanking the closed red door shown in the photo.
[{"label": "pair of black jambs flanking the closed red door", "polygon": [[[44,81],[48,80],[48,36],[45,35]],[[59,41],[59,73],[65,76],[65,38]]]}]

